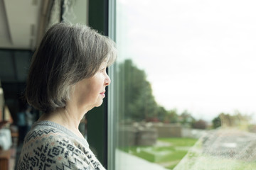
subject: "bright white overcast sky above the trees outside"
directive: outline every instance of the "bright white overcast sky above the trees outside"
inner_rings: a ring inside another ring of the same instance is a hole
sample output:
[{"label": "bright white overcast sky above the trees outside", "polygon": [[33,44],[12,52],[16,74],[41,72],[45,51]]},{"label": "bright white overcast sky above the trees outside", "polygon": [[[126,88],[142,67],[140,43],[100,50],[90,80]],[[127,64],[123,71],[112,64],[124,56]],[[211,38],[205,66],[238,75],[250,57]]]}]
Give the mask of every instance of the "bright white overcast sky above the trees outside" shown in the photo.
[{"label": "bright white overcast sky above the trees outside", "polygon": [[256,113],[256,1],[117,0],[119,60],[144,69],[156,101],[212,120]]}]

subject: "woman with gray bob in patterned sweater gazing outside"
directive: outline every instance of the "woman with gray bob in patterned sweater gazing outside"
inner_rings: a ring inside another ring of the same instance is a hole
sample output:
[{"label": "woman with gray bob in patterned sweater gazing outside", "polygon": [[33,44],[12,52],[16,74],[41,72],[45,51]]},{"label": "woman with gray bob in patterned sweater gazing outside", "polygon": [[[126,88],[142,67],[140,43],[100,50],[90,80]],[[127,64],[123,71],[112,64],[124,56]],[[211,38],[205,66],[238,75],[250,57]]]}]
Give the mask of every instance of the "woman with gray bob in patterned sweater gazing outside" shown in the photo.
[{"label": "woman with gray bob in patterned sweater gazing outside", "polygon": [[78,130],[110,85],[114,42],[82,25],[58,23],[44,35],[28,72],[26,99],[43,112],[23,143],[18,169],[105,169]]}]

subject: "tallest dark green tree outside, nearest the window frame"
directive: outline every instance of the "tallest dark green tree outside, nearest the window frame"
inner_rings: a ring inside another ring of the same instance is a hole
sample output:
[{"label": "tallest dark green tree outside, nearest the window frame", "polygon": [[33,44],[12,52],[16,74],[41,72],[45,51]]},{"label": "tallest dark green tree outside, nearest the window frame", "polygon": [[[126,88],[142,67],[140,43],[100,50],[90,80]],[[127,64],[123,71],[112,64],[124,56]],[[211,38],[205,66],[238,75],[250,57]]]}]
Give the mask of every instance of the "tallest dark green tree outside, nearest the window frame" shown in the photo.
[{"label": "tallest dark green tree outside, nearest the window frame", "polygon": [[146,80],[146,74],[138,69],[132,60],[119,64],[120,98],[123,98],[120,108],[124,119],[148,120],[156,118],[159,106],[152,94],[151,84]]}]

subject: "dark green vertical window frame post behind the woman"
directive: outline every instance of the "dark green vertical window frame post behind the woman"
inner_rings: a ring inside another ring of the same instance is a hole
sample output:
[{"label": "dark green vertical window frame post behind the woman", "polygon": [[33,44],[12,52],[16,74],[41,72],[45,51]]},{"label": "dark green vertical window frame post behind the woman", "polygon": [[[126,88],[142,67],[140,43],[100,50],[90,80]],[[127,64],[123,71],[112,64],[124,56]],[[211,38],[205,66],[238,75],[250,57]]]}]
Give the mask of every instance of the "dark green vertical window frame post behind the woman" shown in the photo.
[{"label": "dark green vertical window frame post behind the woman", "polygon": [[[89,1],[88,23],[89,26],[98,30],[102,35],[108,35],[108,0]],[[90,149],[95,153],[97,159],[103,166],[107,167],[107,111],[108,111],[108,89],[102,106],[93,108],[86,114],[87,118],[87,141]]]}]

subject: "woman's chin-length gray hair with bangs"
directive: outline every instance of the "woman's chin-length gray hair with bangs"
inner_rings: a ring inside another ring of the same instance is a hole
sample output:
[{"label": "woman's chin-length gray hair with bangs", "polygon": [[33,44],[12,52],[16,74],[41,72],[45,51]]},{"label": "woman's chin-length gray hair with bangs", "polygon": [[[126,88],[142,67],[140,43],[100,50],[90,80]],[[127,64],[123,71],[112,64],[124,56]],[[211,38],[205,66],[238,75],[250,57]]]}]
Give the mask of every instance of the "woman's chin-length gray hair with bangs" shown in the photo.
[{"label": "woman's chin-length gray hair with bangs", "polygon": [[114,42],[96,30],[80,24],[55,24],[32,57],[26,99],[46,113],[64,108],[75,83],[92,77],[102,62],[110,66],[116,57]]}]

